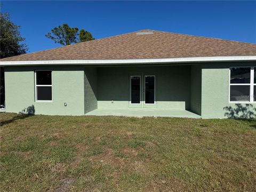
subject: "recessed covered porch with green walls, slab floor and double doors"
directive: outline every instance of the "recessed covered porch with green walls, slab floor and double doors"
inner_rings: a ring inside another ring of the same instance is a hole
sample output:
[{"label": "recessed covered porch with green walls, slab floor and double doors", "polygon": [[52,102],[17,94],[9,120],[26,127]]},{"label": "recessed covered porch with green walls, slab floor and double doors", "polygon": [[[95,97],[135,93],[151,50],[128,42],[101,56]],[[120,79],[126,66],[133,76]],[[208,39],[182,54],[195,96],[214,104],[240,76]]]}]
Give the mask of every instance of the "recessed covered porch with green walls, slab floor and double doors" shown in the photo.
[{"label": "recessed covered porch with green walls, slab floor and double doors", "polygon": [[201,66],[86,67],[85,115],[201,117]]}]

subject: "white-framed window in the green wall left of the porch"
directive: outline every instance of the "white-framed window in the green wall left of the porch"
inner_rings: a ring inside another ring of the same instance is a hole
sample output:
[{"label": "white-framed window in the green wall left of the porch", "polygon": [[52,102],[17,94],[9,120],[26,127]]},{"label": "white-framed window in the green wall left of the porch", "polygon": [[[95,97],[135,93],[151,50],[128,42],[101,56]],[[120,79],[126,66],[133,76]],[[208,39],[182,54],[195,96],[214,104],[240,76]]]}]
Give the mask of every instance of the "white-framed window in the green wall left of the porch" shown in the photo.
[{"label": "white-framed window in the green wall left of the porch", "polygon": [[35,71],[36,101],[52,101],[52,71]]}]

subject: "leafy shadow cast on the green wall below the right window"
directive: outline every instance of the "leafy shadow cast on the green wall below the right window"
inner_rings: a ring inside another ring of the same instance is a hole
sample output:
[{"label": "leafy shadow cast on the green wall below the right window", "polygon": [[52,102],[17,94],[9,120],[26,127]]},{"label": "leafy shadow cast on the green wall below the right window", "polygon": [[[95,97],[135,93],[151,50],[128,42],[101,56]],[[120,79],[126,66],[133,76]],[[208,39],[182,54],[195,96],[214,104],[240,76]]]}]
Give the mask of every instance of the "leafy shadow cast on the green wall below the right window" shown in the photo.
[{"label": "leafy shadow cast on the green wall below the right window", "polygon": [[227,118],[238,119],[239,121],[246,121],[252,123],[252,127],[256,128],[256,108],[253,107],[252,104],[244,104],[236,103],[235,106],[227,106],[224,107],[225,116]]}]

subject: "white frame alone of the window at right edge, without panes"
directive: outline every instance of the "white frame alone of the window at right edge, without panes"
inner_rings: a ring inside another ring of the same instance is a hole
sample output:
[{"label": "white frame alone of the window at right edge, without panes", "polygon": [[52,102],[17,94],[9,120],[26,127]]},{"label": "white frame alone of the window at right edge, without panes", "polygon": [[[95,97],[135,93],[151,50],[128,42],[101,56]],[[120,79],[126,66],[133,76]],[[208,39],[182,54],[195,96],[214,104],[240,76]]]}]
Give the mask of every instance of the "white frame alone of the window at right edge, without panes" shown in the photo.
[{"label": "white frame alone of the window at right edge, without panes", "polygon": [[[250,68],[250,83],[230,83],[230,77],[231,77],[231,68]],[[229,103],[256,103],[256,101],[253,101],[253,92],[254,92],[254,85],[256,85],[256,83],[254,83],[254,66],[232,66],[232,67],[229,67],[229,87],[228,87],[228,90],[229,90],[229,94],[228,94],[228,101]],[[250,86],[250,101],[230,101],[230,87],[232,85],[239,85],[239,86]]]}]

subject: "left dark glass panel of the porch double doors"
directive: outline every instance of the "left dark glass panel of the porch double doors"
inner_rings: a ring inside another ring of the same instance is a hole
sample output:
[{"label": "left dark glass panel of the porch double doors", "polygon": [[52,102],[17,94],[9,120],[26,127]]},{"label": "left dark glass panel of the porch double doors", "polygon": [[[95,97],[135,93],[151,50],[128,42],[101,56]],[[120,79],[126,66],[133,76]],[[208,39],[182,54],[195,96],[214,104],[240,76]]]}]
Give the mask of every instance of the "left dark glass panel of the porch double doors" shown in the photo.
[{"label": "left dark glass panel of the porch double doors", "polygon": [[131,76],[131,103],[140,103],[140,76]]}]

